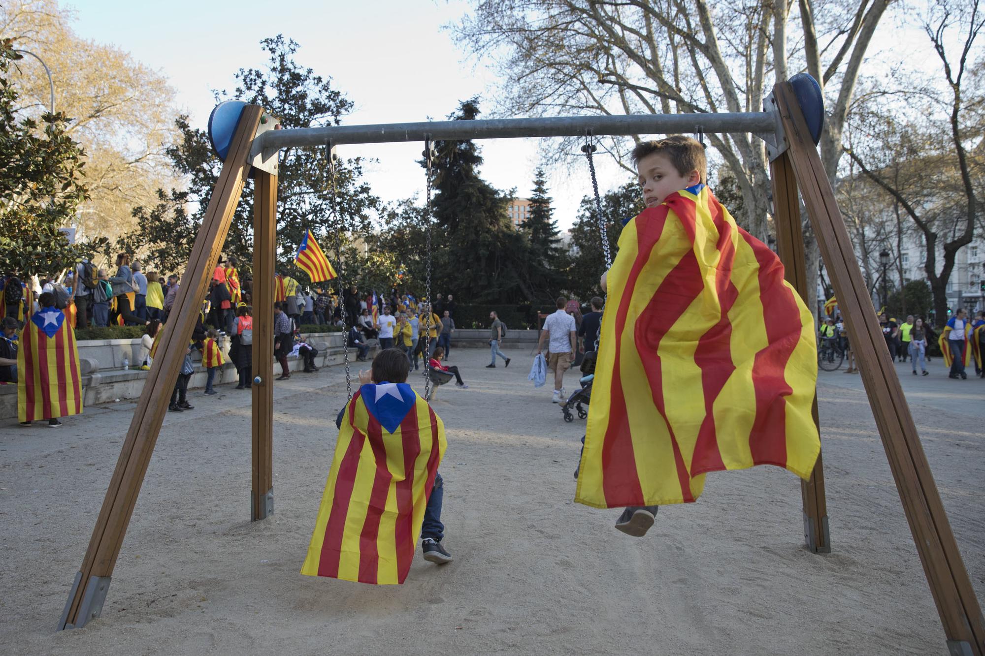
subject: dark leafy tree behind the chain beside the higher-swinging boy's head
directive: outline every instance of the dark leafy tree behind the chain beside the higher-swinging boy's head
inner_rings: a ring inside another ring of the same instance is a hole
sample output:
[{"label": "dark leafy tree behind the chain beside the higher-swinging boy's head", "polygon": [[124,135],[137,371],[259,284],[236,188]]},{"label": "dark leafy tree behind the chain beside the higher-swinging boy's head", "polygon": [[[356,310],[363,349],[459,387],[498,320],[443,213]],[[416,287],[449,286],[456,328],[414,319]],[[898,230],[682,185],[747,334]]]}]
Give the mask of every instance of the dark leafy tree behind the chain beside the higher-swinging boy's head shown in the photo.
[{"label": "dark leafy tree behind the chain beside the higher-swinging boy's head", "polygon": [[[606,223],[613,259],[616,257],[619,236],[623,232],[623,222],[635,217],[642,210],[643,198],[636,182],[626,182],[602,197],[602,217]],[[595,215],[595,198],[585,196],[581,199],[578,216],[571,227],[574,255],[568,270],[567,292],[581,300],[603,295],[599,281],[606,271],[606,263]]]}]

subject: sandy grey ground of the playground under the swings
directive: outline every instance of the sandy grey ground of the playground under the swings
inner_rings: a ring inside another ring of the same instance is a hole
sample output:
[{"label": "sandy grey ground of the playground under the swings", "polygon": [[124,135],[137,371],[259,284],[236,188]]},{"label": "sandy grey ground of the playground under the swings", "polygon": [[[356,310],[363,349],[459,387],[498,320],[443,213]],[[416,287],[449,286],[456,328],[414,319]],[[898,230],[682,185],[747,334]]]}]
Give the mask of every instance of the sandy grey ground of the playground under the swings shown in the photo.
[{"label": "sandy grey ground of the playground under the swings", "polygon": [[[249,397],[223,385],[168,414],[102,617],[54,630],[133,404],[52,430],[0,427],[4,654],[945,654],[945,636],[858,376],[821,372],[833,553],[802,545],[799,483],[708,476],[643,539],[576,505],[584,422],[561,421],[530,359],[434,402],[448,430],[444,566],[403,586],[301,576],[345,398],[341,367],[276,388],[275,514],[249,515]],[[899,365],[972,581],[985,592],[985,381]],[[416,378],[420,386],[421,378]],[[572,381],[573,382],[573,381]],[[568,388],[570,389],[569,383]]]}]

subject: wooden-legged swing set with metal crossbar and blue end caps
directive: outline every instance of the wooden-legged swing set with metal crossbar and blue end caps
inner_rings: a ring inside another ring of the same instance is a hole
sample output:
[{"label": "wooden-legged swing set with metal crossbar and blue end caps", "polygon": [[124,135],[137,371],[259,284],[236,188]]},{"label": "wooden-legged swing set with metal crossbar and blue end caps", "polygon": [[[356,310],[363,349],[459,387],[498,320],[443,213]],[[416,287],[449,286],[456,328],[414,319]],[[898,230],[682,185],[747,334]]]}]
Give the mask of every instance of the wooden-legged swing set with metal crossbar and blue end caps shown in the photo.
[{"label": "wooden-legged swing set with metal crossbar and blue end caps", "polygon": [[[848,232],[824,173],[817,144],[823,121],[821,88],[800,74],[777,83],[763,111],[701,114],[632,114],[557,118],[434,121],[281,129],[263,107],[224,102],[209,120],[209,134],[223,168],[181,280],[174,311],[144,384],[99,511],[89,548],[75,575],[58,628],[83,626],[98,618],[123,537],[133,513],[151,454],[164,422],[185,345],[208,289],[209,278],[230,229],[249,177],[254,178],[253,349],[251,519],[273,512],[273,305],[277,217],[278,154],[285,148],[326,148],[333,167],[340,145],[420,141],[427,164],[427,295],[430,295],[430,165],[435,140],[520,137],[583,137],[598,198],[592,153],[603,135],[671,133],[749,133],[765,142],[772,186],[777,252],[786,280],[802,296],[813,276],[806,270],[800,198],[821,246],[821,256],[845,318],[862,371],[896,489],[923,564],[953,656],[985,656],[985,620],[961,560],[951,525],[934,482],[913,417],[889,359],[876,311]],[[334,189],[333,189],[334,194]],[[333,199],[334,200],[334,199]],[[334,203],[333,203],[334,204]],[[333,210],[334,211],[334,210]],[[338,216],[338,215],[336,215]],[[601,213],[600,213],[601,219]],[[606,262],[608,237],[600,221]],[[342,272],[340,271],[340,277]],[[429,331],[426,331],[429,336]],[[426,337],[426,339],[428,339]],[[345,343],[348,345],[348,339]],[[427,360],[427,359],[426,359]],[[347,391],[352,396],[348,346]],[[436,372],[435,372],[436,373]],[[426,369],[430,394],[432,378]],[[818,423],[817,396],[814,420]],[[808,482],[801,482],[804,538],[815,554],[830,552],[821,455]]]}]

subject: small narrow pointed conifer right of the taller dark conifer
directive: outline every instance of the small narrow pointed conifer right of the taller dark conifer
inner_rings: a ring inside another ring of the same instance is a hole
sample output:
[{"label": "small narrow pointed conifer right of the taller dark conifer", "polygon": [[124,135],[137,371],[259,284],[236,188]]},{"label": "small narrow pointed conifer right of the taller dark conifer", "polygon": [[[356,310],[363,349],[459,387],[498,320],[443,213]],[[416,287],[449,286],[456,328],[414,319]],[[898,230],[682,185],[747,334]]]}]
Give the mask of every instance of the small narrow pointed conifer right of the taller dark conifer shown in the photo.
[{"label": "small narrow pointed conifer right of the taller dark conifer", "polygon": [[547,177],[544,169],[534,174],[534,189],[530,196],[530,211],[523,224],[522,233],[527,237],[526,276],[530,287],[540,298],[556,296],[563,284],[558,222],[554,220],[551,198],[548,196]]}]

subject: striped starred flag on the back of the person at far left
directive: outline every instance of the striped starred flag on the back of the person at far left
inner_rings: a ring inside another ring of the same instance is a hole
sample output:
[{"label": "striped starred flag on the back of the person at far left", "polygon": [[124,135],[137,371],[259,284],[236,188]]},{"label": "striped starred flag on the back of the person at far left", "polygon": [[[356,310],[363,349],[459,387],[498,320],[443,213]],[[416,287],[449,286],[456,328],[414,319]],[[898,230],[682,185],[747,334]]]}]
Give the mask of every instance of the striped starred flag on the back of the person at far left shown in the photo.
[{"label": "striped starred flag on the back of the person at far left", "polygon": [[79,349],[65,313],[55,307],[34,312],[17,351],[17,415],[21,422],[82,413]]}]

